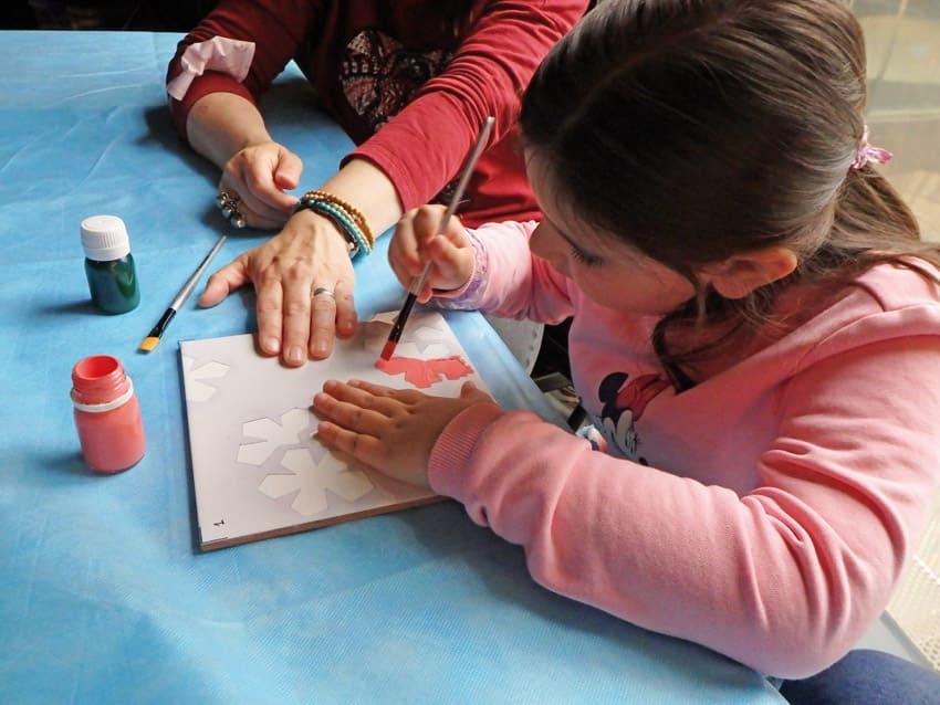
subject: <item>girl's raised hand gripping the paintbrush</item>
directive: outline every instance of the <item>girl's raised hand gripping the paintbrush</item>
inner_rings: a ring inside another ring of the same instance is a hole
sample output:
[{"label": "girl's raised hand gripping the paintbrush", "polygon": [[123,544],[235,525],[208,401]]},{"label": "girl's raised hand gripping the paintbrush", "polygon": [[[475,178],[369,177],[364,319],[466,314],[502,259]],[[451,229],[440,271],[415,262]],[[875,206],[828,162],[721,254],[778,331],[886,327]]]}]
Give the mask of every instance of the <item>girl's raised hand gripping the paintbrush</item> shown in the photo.
[{"label": "girl's raised hand gripping the paintbrush", "polygon": [[388,262],[406,290],[421,275],[425,263],[431,262],[425,288],[418,292],[422,304],[430,301],[434,290],[460,288],[473,274],[473,245],[460,221],[451,218],[447,232],[437,234],[443,211],[443,206],[408,211],[398,221],[388,246]]}]

